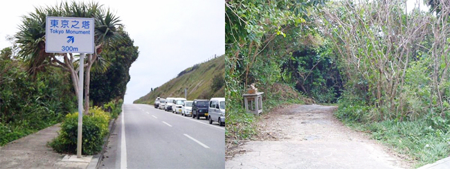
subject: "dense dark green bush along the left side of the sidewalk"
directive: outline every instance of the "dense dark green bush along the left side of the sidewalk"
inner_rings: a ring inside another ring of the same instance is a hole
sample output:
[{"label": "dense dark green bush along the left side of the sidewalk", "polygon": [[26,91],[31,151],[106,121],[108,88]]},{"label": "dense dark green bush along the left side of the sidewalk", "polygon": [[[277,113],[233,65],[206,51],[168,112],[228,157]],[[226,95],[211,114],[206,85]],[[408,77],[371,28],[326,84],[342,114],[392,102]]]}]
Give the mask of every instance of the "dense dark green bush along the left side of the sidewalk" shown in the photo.
[{"label": "dense dark green bush along the left side of the sidewalk", "polygon": [[0,145],[54,125],[74,110],[66,72],[48,67],[33,77],[14,59],[0,59],[0,70]]}]

